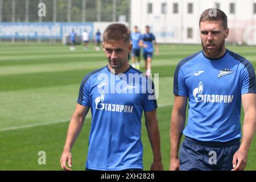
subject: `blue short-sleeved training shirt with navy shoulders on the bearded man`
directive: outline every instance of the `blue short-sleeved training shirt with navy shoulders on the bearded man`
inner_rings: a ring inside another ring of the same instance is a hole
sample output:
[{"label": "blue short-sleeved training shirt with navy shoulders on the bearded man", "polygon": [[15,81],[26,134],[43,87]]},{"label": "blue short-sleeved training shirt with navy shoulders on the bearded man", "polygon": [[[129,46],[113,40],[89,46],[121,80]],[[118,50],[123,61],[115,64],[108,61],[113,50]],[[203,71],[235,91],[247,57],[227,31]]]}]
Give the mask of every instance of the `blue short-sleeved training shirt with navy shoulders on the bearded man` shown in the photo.
[{"label": "blue short-sleeved training shirt with navy shoulders on the bearded man", "polygon": [[253,65],[226,49],[218,59],[203,51],[180,61],[174,94],[188,97],[183,134],[200,141],[227,142],[241,138],[241,95],[256,93]]}]

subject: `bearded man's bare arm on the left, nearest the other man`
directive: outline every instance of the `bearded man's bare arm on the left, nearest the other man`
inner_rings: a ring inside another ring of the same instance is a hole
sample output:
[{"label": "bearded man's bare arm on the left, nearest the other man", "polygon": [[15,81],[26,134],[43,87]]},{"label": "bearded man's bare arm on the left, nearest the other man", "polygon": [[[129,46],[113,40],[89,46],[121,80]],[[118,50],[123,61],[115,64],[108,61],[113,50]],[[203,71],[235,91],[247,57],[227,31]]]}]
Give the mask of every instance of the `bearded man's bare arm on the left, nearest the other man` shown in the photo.
[{"label": "bearded man's bare arm on the left, nearest the other man", "polygon": [[187,96],[174,96],[174,108],[171,116],[171,156],[170,156],[170,170],[179,170],[180,162],[178,157],[180,140],[182,131],[185,125],[185,113],[187,107]]}]

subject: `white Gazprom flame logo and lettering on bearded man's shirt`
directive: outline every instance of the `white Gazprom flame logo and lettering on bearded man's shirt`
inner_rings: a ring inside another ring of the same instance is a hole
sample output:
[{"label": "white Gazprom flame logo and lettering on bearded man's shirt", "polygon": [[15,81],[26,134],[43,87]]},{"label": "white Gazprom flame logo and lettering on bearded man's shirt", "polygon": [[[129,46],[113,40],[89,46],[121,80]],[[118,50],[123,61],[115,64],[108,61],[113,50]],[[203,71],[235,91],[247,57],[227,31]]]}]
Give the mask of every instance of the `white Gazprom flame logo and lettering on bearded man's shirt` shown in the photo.
[{"label": "white Gazprom flame logo and lettering on bearded man's shirt", "polygon": [[200,81],[198,87],[193,90],[196,102],[231,103],[234,98],[233,95],[203,94],[203,91],[203,82]]}]

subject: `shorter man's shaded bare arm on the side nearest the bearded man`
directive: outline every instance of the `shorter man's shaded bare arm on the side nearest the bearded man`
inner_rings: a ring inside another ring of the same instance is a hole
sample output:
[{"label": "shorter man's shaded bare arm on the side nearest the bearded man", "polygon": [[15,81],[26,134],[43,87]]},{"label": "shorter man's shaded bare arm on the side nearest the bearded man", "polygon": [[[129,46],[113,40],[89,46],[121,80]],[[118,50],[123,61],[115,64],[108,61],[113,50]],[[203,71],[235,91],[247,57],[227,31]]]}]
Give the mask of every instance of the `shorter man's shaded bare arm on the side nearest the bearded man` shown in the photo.
[{"label": "shorter man's shaded bare arm on the side nearest the bearded man", "polygon": [[163,170],[162,155],[160,150],[160,134],[158,128],[158,119],[156,118],[156,109],[145,112],[145,123],[147,128],[148,139],[150,140],[152,152],[153,152],[153,163],[151,164],[150,170],[157,171]]}]

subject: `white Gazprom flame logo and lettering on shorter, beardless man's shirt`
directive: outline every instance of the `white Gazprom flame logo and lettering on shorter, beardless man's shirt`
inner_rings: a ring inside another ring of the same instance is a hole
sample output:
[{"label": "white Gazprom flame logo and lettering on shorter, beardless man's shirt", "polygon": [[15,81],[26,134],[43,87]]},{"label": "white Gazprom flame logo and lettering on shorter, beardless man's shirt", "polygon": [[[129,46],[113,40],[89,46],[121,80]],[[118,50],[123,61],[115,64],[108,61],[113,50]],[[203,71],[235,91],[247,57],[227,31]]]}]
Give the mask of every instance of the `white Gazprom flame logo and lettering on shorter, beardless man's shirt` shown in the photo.
[{"label": "white Gazprom flame logo and lettering on shorter, beardless man's shirt", "polygon": [[102,91],[101,96],[96,97],[96,99],[95,99],[96,109],[112,111],[112,112],[119,112],[119,113],[122,113],[122,112],[123,113],[133,113],[133,106],[104,103],[104,98],[105,98],[105,93],[104,93],[104,91]]}]

